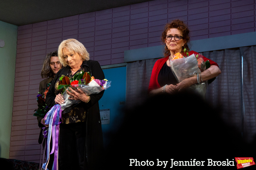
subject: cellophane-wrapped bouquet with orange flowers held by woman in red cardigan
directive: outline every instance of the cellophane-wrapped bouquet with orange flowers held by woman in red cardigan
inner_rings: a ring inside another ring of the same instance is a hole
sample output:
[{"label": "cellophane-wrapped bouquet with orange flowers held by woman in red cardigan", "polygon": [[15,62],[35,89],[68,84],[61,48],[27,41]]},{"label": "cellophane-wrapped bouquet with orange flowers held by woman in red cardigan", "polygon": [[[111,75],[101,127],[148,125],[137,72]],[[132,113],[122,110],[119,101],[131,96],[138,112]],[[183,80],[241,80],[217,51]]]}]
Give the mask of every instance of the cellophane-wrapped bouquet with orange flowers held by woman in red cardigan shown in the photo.
[{"label": "cellophane-wrapped bouquet with orange flowers held by woman in red cardigan", "polygon": [[[189,88],[202,96],[206,93],[206,82],[201,82],[201,72],[210,67],[209,60],[204,62],[203,56],[201,54],[192,54],[189,56],[186,48],[184,49],[183,56],[180,53],[176,53],[172,59],[169,59],[170,67],[173,74],[178,82],[183,79],[197,76],[198,84],[194,84]],[[201,82],[201,83],[200,83]]]}]

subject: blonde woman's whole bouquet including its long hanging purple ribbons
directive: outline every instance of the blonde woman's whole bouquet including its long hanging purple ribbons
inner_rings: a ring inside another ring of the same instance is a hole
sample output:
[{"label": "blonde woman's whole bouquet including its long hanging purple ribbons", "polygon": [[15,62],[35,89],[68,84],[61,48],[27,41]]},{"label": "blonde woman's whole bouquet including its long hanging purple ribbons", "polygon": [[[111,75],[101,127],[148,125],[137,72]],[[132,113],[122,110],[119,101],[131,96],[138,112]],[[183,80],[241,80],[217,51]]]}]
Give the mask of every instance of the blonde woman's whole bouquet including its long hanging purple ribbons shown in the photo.
[{"label": "blonde woman's whole bouquet including its long hanging purple ribbons", "polygon": [[[65,108],[70,107],[73,104],[78,104],[79,100],[68,99],[69,95],[66,92],[67,88],[77,88],[81,89],[87,95],[97,94],[103,90],[111,87],[111,81],[107,79],[99,80],[95,79],[90,75],[89,72],[84,73],[81,71],[70,79],[67,76],[60,77],[60,82],[58,89],[61,90],[64,96],[65,102],[62,105],[54,105],[44,116],[45,124],[49,125],[48,137],[47,138],[47,161],[43,164],[43,169],[47,169],[49,163],[49,155],[54,153],[53,169],[58,169],[58,135],[59,135],[59,125],[61,123],[61,113]],[[50,149],[50,140],[52,136],[52,148]]]}]

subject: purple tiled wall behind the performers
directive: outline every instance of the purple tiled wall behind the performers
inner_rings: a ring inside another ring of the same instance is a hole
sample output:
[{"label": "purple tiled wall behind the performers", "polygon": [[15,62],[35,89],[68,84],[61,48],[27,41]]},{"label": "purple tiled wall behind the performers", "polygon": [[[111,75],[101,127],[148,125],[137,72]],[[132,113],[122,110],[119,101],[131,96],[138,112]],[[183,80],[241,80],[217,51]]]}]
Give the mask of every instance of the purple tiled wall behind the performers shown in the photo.
[{"label": "purple tiled wall behind the performers", "polygon": [[45,55],[78,39],[101,65],[124,62],[124,51],[161,45],[164,25],[184,20],[191,40],[256,31],[255,0],[154,0],[18,27],[10,159],[39,162],[33,116]]}]

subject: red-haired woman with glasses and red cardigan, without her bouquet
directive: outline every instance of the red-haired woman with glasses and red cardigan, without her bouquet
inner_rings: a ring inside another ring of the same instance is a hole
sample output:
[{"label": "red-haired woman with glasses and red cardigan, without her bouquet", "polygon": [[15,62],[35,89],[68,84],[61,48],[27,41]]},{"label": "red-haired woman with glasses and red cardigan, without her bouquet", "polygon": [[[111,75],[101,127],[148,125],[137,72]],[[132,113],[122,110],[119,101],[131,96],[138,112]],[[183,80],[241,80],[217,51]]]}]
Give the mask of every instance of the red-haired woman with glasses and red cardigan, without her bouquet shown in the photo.
[{"label": "red-haired woman with glasses and red cardigan, without her bouquet", "polygon": [[[189,51],[188,42],[190,37],[186,24],[181,20],[173,20],[172,23],[167,23],[161,39],[166,44],[164,58],[158,59],[154,64],[148,87],[149,94],[172,94],[198,83],[197,77],[189,77],[178,83],[169,67],[169,58],[172,59],[174,54],[178,52],[183,54],[184,48]],[[198,53],[189,51],[189,55],[192,54]],[[207,60],[209,60],[211,66],[201,73],[200,82],[212,79],[221,74],[218,64],[204,57],[204,61]]]}]

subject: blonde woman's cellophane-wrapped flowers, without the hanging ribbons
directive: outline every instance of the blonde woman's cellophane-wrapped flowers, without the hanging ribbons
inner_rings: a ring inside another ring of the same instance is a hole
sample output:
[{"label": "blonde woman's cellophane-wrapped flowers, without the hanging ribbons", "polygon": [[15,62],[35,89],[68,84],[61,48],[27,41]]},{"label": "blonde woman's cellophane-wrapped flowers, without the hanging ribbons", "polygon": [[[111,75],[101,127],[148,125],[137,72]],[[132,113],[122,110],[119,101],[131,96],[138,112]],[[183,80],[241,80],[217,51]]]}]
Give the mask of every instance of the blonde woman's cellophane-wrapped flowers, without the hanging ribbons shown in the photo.
[{"label": "blonde woman's cellophane-wrapped flowers, without the hanging ribbons", "polygon": [[79,88],[85,94],[90,95],[97,94],[103,90],[108,89],[109,87],[111,87],[111,81],[108,81],[107,79],[95,79],[93,76],[90,75],[89,72],[84,73],[84,71],[75,74],[72,79],[69,79],[69,77],[67,76],[60,77],[58,89],[61,89],[62,95],[65,100],[65,102],[61,104],[62,111],[64,111],[65,108],[68,108],[73,104],[81,102],[79,100],[69,99],[69,95],[66,92],[66,89],[69,87],[73,88],[73,90]]}]

